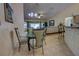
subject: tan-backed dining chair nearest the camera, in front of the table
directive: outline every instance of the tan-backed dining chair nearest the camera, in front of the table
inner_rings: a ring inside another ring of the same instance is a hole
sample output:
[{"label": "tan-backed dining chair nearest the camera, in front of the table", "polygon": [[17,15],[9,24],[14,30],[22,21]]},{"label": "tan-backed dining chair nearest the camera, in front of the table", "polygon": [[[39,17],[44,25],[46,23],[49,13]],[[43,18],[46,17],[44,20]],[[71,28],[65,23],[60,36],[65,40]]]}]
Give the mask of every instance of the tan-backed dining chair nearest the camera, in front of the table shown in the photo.
[{"label": "tan-backed dining chair nearest the camera, in front of the table", "polygon": [[[44,30],[35,30],[35,44],[31,45],[33,49],[33,55],[35,55],[35,49],[42,48],[42,54],[44,55],[43,41],[44,41]],[[34,41],[33,41],[34,43]]]}]

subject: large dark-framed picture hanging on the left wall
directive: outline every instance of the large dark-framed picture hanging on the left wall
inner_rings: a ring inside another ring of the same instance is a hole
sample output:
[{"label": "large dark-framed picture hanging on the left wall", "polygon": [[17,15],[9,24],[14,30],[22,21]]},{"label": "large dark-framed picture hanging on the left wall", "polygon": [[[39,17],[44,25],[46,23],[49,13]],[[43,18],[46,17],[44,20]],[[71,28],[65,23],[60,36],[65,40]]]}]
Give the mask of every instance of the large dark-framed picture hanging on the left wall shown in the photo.
[{"label": "large dark-framed picture hanging on the left wall", "polygon": [[12,13],[13,10],[9,3],[4,3],[5,21],[13,23]]}]

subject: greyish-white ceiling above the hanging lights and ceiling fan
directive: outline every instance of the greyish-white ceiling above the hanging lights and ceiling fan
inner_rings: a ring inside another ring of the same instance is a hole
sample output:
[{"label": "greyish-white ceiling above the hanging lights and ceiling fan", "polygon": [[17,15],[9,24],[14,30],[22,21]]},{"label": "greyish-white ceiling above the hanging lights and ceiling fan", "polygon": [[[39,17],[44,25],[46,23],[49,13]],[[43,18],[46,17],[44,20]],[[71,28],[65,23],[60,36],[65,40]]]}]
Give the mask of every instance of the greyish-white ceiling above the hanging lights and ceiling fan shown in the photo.
[{"label": "greyish-white ceiling above the hanging lights and ceiling fan", "polygon": [[28,13],[35,12],[42,14],[43,18],[51,18],[71,5],[72,3],[24,3],[24,16],[27,19]]}]

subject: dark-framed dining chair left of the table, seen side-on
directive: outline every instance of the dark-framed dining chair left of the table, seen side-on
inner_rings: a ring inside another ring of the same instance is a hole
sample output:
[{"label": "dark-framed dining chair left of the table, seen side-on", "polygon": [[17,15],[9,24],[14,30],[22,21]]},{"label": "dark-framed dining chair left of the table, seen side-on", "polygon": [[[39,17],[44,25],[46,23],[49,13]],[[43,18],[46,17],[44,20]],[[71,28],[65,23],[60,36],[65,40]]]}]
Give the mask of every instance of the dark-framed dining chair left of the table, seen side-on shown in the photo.
[{"label": "dark-framed dining chair left of the table, seen side-on", "polygon": [[18,51],[20,51],[21,45],[27,43],[27,38],[26,38],[26,36],[20,35],[18,28],[15,28],[15,32],[16,32],[16,36],[18,39],[18,43],[19,43]]}]

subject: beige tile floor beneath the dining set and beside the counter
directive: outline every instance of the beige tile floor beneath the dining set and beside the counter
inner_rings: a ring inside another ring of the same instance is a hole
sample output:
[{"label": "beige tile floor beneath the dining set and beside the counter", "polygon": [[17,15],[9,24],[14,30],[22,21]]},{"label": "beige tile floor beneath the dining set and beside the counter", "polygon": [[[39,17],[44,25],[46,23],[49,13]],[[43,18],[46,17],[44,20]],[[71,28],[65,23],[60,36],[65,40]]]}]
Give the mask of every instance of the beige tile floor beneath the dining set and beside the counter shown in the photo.
[{"label": "beige tile floor beneath the dining set and beside the counter", "polygon": [[[58,34],[47,35],[45,37],[44,56],[73,56],[74,54],[66,46],[63,40],[58,40]],[[33,56],[33,50],[28,52],[27,45],[23,45],[21,51],[15,50],[16,56]],[[35,50],[35,56],[43,56],[42,49]]]}]

